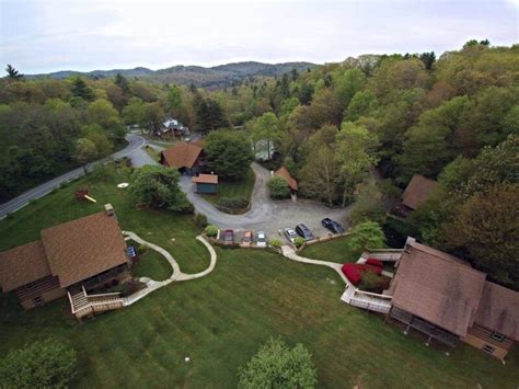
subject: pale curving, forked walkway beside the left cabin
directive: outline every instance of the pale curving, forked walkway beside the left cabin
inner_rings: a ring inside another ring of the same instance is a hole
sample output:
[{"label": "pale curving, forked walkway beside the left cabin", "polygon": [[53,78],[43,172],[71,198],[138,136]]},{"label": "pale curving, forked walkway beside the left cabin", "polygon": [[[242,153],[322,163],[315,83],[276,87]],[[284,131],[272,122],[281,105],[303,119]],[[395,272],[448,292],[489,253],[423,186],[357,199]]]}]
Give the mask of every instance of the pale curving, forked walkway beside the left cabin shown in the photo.
[{"label": "pale curving, forked walkway beside the left cabin", "polygon": [[209,251],[209,254],[211,256],[209,267],[207,267],[205,271],[196,274],[186,274],[182,273],[181,267],[178,266],[178,263],[175,261],[175,259],[164,249],[161,247],[153,244],[151,242],[148,242],[140,238],[137,233],[131,232],[131,231],[123,231],[123,234],[125,236],[125,240],[132,240],[139,244],[146,244],[148,245],[151,250],[157,251],[160,253],[162,256],[164,256],[168,262],[171,265],[172,268],[172,274],[168,279],[164,281],[154,281],[148,277],[140,277],[139,281],[143,284],[146,284],[146,287],[128,297],[124,298],[123,306],[127,307],[130,306],[137,301],[139,301],[142,297],[149,295],[153,290],[157,290],[163,286],[166,286],[175,281],[189,281],[189,279],[196,279],[204,277],[211,273],[215,270],[216,263],[217,263],[217,254],[212,245],[209,244],[201,236],[196,237],[197,240],[199,240],[207,248]]}]

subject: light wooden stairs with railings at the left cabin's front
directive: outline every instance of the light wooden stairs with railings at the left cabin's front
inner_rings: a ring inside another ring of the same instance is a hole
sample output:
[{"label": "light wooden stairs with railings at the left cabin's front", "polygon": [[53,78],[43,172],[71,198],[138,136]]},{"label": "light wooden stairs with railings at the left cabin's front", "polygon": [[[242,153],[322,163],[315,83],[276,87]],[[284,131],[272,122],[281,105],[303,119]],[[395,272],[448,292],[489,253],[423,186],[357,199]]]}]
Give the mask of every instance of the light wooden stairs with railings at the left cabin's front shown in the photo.
[{"label": "light wooden stairs with railings at the left cabin's front", "polygon": [[124,301],[119,293],[88,295],[84,290],[84,286],[81,286],[81,291],[74,295],[68,291],[68,296],[72,314],[76,316],[77,319],[123,308]]}]

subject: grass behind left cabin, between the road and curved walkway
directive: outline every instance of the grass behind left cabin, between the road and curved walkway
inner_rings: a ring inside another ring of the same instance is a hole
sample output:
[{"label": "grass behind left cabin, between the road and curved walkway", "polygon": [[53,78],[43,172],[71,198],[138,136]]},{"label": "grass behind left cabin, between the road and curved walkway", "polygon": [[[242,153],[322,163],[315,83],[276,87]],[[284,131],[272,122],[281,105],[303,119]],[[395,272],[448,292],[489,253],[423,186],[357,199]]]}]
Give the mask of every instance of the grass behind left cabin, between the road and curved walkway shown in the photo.
[{"label": "grass behind left cabin, between the road and curved walkway", "polygon": [[[89,175],[27,205],[13,214],[12,218],[0,220],[0,250],[37,240],[43,228],[101,211],[104,204],[112,203],[123,229],[134,231],[170,251],[185,273],[205,270],[209,265],[209,253],[195,239],[198,231],[193,224],[193,216],[137,210],[127,190],[116,186],[120,182],[128,182],[128,175],[127,169],[108,171],[102,174],[101,181]],[[97,203],[78,202],[74,198],[76,191],[83,187],[89,188]]]}]

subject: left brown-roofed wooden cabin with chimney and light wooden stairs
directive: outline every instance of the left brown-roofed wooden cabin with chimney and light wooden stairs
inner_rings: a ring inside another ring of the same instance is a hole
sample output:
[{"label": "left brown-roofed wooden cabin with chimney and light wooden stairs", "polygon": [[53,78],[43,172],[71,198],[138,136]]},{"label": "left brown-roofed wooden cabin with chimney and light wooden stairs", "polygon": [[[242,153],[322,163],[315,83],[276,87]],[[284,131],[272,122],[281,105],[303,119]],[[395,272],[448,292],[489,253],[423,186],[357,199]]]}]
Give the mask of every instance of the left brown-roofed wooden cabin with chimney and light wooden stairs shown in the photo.
[{"label": "left brown-roofed wooden cabin with chimney and light wooden stairs", "polygon": [[68,296],[77,318],[123,307],[96,294],[131,278],[126,242],[112,206],[41,231],[41,239],[0,253],[0,287],[24,309]]}]

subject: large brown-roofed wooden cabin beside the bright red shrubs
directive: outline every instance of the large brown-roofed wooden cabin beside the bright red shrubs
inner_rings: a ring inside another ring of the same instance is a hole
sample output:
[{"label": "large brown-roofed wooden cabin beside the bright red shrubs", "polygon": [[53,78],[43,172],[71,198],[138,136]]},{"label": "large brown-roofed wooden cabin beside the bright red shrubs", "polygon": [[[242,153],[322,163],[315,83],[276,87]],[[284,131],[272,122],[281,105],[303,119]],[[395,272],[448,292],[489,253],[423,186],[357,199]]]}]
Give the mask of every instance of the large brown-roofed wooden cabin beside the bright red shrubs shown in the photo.
[{"label": "large brown-roofed wooden cabin beside the bright red shrubs", "polygon": [[504,361],[519,341],[519,293],[486,279],[470,263],[407,243],[385,295],[389,318],[453,348],[459,340]]}]

